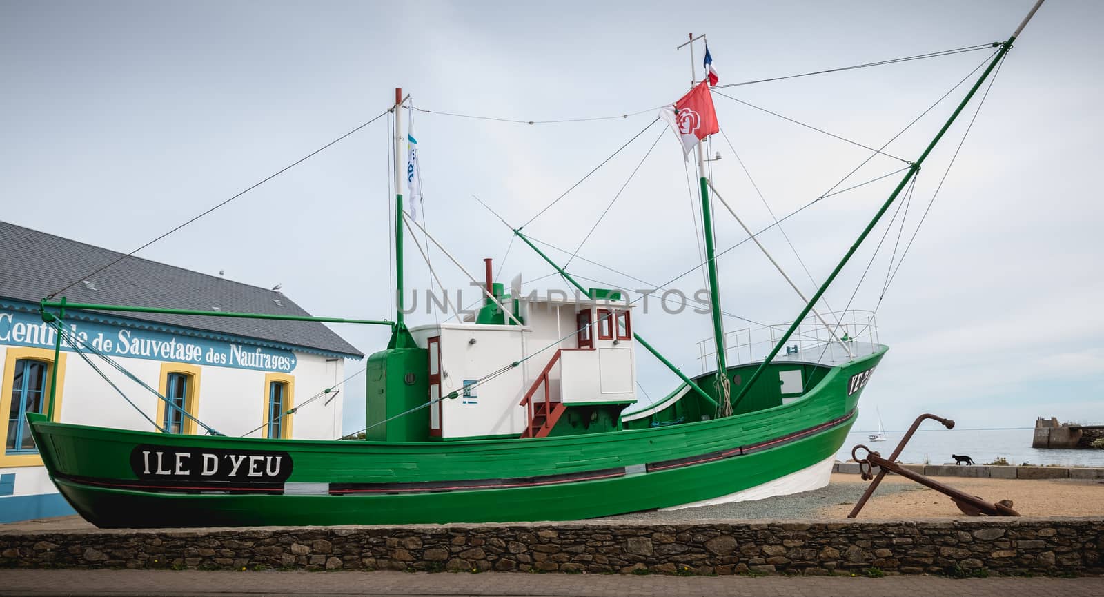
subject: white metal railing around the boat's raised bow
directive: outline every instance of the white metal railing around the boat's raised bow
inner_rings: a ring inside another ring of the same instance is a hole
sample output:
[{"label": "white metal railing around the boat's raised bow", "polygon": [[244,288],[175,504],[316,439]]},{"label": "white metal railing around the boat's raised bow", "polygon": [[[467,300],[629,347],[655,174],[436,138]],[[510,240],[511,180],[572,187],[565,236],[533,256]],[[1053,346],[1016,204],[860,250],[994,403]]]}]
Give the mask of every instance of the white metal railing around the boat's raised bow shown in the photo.
[{"label": "white metal railing around the boat's raised bow", "polygon": [[[878,350],[878,322],[874,312],[861,309],[821,312],[832,326],[831,332],[816,316],[808,316],[786,341],[776,360],[789,359],[825,364],[847,362],[854,356]],[[778,343],[792,322],[763,328],[741,328],[724,333],[724,359],[728,364],[742,365],[762,361]],[[835,337],[835,338],[834,338]],[[846,349],[842,343],[846,343]],[[713,338],[698,342],[698,361],[702,372],[716,366],[716,344]]]}]

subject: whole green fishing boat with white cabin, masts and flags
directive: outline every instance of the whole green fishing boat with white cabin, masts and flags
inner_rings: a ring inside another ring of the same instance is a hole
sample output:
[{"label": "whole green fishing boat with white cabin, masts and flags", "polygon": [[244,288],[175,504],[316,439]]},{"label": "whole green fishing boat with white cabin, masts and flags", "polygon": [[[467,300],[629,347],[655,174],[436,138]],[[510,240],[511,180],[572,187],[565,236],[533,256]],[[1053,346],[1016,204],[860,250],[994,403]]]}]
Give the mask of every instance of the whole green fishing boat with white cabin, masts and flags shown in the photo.
[{"label": "whole green fishing boat with white cabin, masts and flags", "polygon": [[[872,318],[821,313],[815,305],[1028,19],[1007,41],[994,44],[994,55],[957,109],[923,153],[909,162],[816,292],[802,295],[805,308],[777,328],[765,353],[736,363],[731,354],[737,347],[725,341],[711,195],[729,204],[705,177],[701,139],[711,132],[709,114],[693,104],[709,98],[708,85],[715,76],[707,76],[668,117],[683,141],[696,137],[687,147],[698,152],[702,265],[714,332],[710,356],[715,366],[710,371],[689,376],[671,364],[635,329],[634,300],[584,287],[520,227],[513,230],[516,238],[578,290],[574,298],[522,297],[518,285],[507,292],[491,278],[488,260],[486,279],[478,282],[485,302],[469,321],[407,327],[402,303],[404,230],[433,238],[406,215],[403,196],[396,194],[394,320],[283,317],[391,329],[388,347],[367,362],[362,438],[263,439],[226,437],[211,429],[208,435],[180,435],[62,424],[52,422],[51,396],[46,413],[26,415],[44,466],[73,508],[102,527],[575,520],[824,486],[856,420],[863,388],[888,349],[879,342]],[[396,89],[391,108],[396,131],[405,103]],[[399,136],[394,150],[401,154]],[[396,190],[400,182],[396,167]],[[279,318],[68,303],[64,298],[44,299],[41,309],[44,321],[59,331],[55,350],[65,342],[67,350],[93,355],[93,347],[66,334],[66,311]],[[682,383],[664,398],[639,405],[637,360],[648,355]],[[179,408],[159,397],[166,408]],[[192,418],[187,412],[181,415]]]}]

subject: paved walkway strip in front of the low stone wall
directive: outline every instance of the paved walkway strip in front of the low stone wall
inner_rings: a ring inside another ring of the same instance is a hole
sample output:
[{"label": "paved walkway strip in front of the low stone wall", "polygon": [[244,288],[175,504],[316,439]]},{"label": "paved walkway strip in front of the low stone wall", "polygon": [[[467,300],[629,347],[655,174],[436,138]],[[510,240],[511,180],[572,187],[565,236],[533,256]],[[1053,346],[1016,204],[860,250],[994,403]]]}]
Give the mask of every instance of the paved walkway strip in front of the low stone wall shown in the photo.
[{"label": "paved walkway strip in front of the low stone wall", "polygon": [[110,595],[220,597],[363,595],[488,597],[845,597],[938,596],[1079,597],[1104,594],[1104,578],[884,578],[785,576],[624,576],[569,574],[426,574],[401,572],[0,571],[0,595]]}]

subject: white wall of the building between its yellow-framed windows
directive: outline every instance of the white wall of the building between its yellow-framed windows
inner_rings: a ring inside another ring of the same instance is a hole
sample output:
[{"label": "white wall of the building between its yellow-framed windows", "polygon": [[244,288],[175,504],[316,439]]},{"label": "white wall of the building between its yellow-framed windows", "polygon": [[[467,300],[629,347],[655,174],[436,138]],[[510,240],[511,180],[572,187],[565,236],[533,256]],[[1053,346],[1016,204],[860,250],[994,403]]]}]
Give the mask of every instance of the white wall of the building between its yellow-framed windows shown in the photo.
[{"label": "white wall of the building between its yellow-framed windows", "polygon": [[[9,349],[12,348],[23,347],[0,343],[0,366],[7,362]],[[64,375],[59,380],[59,387],[62,388],[59,401],[62,423],[156,431],[77,353],[63,351],[63,354]],[[295,356],[295,369],[284,375],[293,382],[293,406],[302,406],[327,387],[343,387],[340,382],[346,375],[344,359],[298,351]],[[89,358],[142,413],[157,420],[160,402],[157,396],[110,369],[98,358]],[[126,356],[113,359],[144,383],[159,390],[163,361]],[[250,437],[264,437],[265,430],[257,427],[265,423],[268,393],[266,375],[270,372],[216,365],[198,365],[198,370],[200,381],[197,418],[224,435],[240,436],[248,433]],[[293,415],[293,438],[335,439],[341,436],[341,394],[329,404],[326,402],[327,396],[319,397]],[[0,416],[7,419],[9,414],[2,413]],[[202,428],[198,433],[202,434]],[[0,455],[3,455],[2,448]],[[41,459],[31,466],[6,466],[0,462],[0,522],[72,513],[73,510],[57,493],[45,468],[41,466]]]}]

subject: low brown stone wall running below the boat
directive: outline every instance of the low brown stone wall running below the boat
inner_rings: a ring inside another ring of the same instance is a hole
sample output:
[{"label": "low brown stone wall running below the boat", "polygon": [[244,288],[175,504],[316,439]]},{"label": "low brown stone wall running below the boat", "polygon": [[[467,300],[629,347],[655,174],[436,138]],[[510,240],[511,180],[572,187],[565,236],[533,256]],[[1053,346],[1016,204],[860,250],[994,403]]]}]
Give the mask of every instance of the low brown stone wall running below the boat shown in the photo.
[{"label": "low brown stone wall running below the boat", "polygon": [[1104,574],[1104,519],[0,533],[0,566],[666,574]]}]

